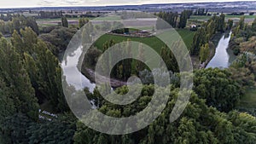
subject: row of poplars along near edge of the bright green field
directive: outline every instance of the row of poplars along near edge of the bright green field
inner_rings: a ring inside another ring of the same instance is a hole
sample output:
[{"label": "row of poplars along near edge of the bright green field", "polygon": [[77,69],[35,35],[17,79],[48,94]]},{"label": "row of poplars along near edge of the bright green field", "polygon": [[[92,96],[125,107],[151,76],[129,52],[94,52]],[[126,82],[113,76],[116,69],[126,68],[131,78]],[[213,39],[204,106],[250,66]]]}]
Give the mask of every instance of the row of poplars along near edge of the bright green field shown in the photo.
[{"label": "row of poplars along near edge of the bright green field", "polygon": [[[92,47],[88,50],[88,52],[84,55],[84,63],[82,65],[82,72],[86,73],[86,68],[90,67],[92,69],[95,69],[96,63],[98,58],[104,53],[108,48],[112,47],[113,45],[118,44],[115,43],[113,39],[109,40],[108,42],[104,43],[102,46],[103,50],[100,50],[98,48]],[[179,42],[174,44],[175,47],[178,49],[178,46],[181,45]],[[127,39],[127,41],[121,46],[122,48],[126,48],[127,51],[119,49],[119,51],[115,51],[114,54],[111,53],[108,56],[104,57],[105,63],[102,64],[102,69],[106,72],[109,72],[109,67],[112,64],[111,59],[117,58],[119,56],[122,57],[122,55],[135,55],[136,57],[143,60],[143,57],[145,56],[145,52],[142,44],[138,45],[137,51],[135,49],[131,50],[131,43],[130,39]],[[177,60],[175,56],[172,54],[172,51],[167,48],[166,45],[164,45],[161,48],[160,56],[164,60],[164,63],[160,63],[159,66],[166,66],[167,69],[171,72],[178,72],[178,66],[177,66]],[[120,80],[127,80],[132,75],[138,76],[140,72],[143,70],[148,69],[148,66],[146,66],[142,61],[140,60],[134,60],[134,59],[127,59],[127,60],[121,60],[119,61],[112,69],[111,77],[112,78],[118,78]]]}]

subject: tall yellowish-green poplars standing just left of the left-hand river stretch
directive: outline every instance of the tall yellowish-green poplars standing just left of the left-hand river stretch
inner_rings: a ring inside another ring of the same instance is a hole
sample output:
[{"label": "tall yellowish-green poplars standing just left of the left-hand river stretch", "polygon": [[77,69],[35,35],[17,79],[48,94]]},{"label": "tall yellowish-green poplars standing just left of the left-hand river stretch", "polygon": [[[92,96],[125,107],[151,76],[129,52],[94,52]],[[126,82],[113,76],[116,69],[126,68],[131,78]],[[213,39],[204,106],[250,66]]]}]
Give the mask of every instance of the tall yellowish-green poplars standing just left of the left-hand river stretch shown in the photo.
[{"label": "tall yellowish-green poplars standing just left of the left-hand river stretch", "polygon": [[59,60],[51,53],[47,44],[38,39],[31,28],[20,30],[22,38],[14,33],[12,43],[22,47],[19,51],[23,55],[20,60],[25,63],[30,83],[35,89],[40,103],[50,101],[57,111],[67,111],[67,103],[61,88],[61,66]]}]

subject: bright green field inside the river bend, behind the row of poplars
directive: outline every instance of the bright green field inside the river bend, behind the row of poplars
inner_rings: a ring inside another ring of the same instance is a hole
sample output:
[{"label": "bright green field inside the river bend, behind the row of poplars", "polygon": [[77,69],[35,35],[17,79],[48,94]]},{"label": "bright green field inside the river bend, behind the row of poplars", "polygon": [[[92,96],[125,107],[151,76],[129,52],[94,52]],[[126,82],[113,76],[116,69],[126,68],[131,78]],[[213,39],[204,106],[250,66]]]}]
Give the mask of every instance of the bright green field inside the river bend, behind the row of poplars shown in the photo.
[{"label": "bright green field inside the river bend, behind the row of poplars", "polygon": [[[177,32],[183,38],[183,41],[187,45],[187,47],[190,48],[195,32],[191,32],[187,29],[177,29]],[[102,49],[102,45],[111,39],[113,39],[115,43],[120,43],[120,42],[126,41],[128,38],[131,39],[131,41],[145,43],[158,53],[160,53],[161,47],[164,46],[164,43],[161,42],[158,37],[124,37],[124,36],[114,36],[110,34],[106,34],[100,37],[96,41],[95,46],[98,49]],[[172,39],[172,37],[170,37],[170,39]]]}]

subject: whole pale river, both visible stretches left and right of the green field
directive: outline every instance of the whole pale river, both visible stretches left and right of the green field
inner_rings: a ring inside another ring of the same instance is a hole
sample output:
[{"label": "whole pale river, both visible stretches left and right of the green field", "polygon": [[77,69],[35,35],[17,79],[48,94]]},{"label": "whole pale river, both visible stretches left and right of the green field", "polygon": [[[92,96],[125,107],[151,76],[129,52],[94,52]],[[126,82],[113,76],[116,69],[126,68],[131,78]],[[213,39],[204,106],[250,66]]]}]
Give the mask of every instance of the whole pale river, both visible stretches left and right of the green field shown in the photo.
[{"label": "whole pale river, both visible stretches left and right of the green field", "polygon": [[[218,46],[215,51],[215,55],[212,60],[208,63],[208,67],[218,67],[226,68],[229,67],[236,56],[233,54],[231,49],[228,49],[230,42],[230,33],[225,33],[218,41]],[[73,85],[75,89],[84,89],[85,87],[90,89],[90,92],[95,89],[96,84],[90,82],[90,79],[86,78],[77,67],[79,63],[79,56],[82,54],[83,47],[78,47],[77,49],[70,52],[68,55],[64,56],[61,61],[61,66],[63,69],[63,74],[66,76],[67,84]]]}]

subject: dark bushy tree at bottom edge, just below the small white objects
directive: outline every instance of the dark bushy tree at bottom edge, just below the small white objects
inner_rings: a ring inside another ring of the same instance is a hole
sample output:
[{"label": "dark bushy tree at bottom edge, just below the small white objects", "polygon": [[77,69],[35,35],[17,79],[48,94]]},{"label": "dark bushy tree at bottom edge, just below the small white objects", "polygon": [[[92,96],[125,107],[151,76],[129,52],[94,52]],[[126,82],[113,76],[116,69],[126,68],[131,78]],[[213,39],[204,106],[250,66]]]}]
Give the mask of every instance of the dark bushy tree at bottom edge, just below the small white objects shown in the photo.
[{"label": "dark bushy tree at bottom edge, just below the small white objects", "polygon": [[76,121],[72,114],[64,113],[51,121],[32,123],[26,131],[28,143],[73,143]]}]

